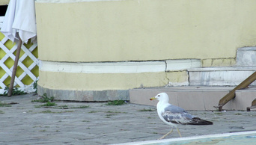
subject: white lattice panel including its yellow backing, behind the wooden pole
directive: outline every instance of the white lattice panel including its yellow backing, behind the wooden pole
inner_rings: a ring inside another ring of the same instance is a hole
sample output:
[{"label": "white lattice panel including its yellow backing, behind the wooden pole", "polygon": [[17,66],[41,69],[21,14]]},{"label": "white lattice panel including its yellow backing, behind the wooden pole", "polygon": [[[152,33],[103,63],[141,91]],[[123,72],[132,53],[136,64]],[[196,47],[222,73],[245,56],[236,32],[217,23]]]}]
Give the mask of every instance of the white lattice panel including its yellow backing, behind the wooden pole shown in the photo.
[{"label": "white lattice panel including its yellow backing, behind the wooden pole", "polygon": [[[7,43],[10,43],[10,40],[7,37],[4,37],[0,42],[0,55],[3,56],[0,60],[0,94],[4,93],[4,88],[10,84],[10,77],[12,75],[13,70],[13,62],[15,60],[17,44],[14,45],[12,48],[9,49],[7,47]],[[27,48],[28,47],[28,48]],[[21,47],[22,51],[19,55],[19,63],[16,72],[16,78],[14,81],[14,87],[19,87],[20,90],[24,90],[25,92],[32,91],[33,87],[32,84],[34,81],[37,81],[38,78],[38,68],[39,68],[39,61],[37,57],[33,54],[34,52],[37,53],[37,44],[22,44]],[[37,54],[36,54],[37,55]],[[11,65],[11,67],[10,67]],[[33,70],[33,72],[31,72]],[[32,82],[28,84],[28,82]]]}]

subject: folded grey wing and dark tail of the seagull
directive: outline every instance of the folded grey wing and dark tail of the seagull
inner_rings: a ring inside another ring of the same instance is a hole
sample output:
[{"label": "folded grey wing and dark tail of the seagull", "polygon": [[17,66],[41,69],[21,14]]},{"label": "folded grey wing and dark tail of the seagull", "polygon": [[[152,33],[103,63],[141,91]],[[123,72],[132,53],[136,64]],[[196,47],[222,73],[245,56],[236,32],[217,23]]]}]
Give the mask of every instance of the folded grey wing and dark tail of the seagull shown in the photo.
[{"label": "folded grey wing and dark tail of the seagull", "polygon": [[177,124],[189,124],[189,125],[210,125],[213,124],[207,120],[201,120],[198,117],[189,114],[183,108],[177,107],[175,105],[168,105],[165,111],[162,112],[162,117],[167,122],[177,123]]}]

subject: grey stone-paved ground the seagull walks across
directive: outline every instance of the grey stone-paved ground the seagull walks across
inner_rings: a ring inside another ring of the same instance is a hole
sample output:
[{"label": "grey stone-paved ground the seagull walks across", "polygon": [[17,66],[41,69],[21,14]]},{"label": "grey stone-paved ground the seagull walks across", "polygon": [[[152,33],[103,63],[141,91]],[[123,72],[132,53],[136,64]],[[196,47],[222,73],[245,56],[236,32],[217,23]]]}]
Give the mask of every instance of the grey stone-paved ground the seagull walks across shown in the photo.
[{"label": "grey stone-paved ground the seagull walks across", "polygon": [[[153,106],[106,105],[106,102],[55,102],[37,108],[38,96],[0,96],[0,144],[119,144],[149,141],[169,132]],[[88,108],[79,108],[88,106]],[[189,111],[213,126],[180,126],[183,137],[256,130],[256,111]],[[178,138],[177,130],[167,138]]]}]

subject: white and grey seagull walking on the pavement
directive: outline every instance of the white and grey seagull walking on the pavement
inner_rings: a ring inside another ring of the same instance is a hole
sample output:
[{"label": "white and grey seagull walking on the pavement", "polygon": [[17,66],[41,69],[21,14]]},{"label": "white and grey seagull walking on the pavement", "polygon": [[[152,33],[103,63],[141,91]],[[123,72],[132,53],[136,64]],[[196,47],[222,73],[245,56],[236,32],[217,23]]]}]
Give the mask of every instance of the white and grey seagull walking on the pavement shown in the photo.
[{"label": "white and grey seagull walking on the pavement", "polygon": [[[170,135],[173,128],[177,129],[177,132],[180,135],[180,130],[177,128],[177,124],[182,125],[213,125],[213,122],[207,120],[201,120],[198,117],[195,117],[192,114],[189,114],[183,108],[177,107],[175,105],[169,104],[169,97],[167,93],[159,93],[156,96],[150,98],[150,100],[158,99],[159,102],[156,105],[157,114],[159,118],[166,124],[171,126],[171,131],[163,135],[162,138],[165,138],[167,135]],[[159,138],[161,140],[162,138]],[[181,135],[180,135],[181,138]]]}]

